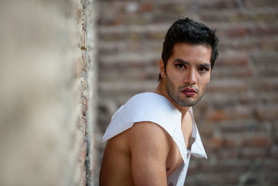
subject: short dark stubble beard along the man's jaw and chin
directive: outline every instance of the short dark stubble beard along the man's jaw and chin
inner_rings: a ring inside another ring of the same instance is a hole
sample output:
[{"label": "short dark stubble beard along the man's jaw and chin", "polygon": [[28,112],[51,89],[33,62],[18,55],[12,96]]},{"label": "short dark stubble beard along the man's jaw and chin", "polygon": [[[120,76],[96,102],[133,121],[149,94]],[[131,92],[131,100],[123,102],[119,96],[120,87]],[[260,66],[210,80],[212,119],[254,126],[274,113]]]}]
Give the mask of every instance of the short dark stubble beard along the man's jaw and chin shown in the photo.
[{"label": "short dark stubble beard along the man's jaw and chin", "polygon": [[167,74],[165,75],[165,89],[168,93],[168,95],[170,96],[170,98],[172,98],[172,100],[174,100],[174,102],[176,102],[177,104],[179,104],[182,107],[193,107],[195,104],[197,104],[197,102],[199,102],[199,100],[202,99],[203,95],[204,95],[204,91],[201,95],[199,95],[199,89],[195,89],[195,91],[197,92],[197,94],[199,95],[195,100],[190,100],[190,98],[181,98],[181,95],[179,94],[181,92],[181,90],[183,90],[183,88],[186,88],[188,86],[179,86],[177,92],[174,91],[174,84],[172,84],[172,82],[170,81],[169,77],[167,76]]}]

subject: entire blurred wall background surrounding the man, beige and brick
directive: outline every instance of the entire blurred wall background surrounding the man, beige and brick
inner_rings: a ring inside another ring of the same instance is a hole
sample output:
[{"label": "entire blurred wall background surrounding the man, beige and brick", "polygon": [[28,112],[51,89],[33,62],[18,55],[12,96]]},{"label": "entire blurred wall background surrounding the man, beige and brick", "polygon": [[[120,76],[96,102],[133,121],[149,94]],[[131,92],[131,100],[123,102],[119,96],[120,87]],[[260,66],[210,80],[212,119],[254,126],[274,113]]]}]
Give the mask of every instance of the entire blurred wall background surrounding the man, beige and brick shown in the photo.
[{"label": "entire blurred wall background surrounding the man, beige and brick", "polygon": [[278,185],[278,1],[0,1],[0,185],[99,185],[113,113],[158,84],[167,29],[216,29],[186,185]]}]

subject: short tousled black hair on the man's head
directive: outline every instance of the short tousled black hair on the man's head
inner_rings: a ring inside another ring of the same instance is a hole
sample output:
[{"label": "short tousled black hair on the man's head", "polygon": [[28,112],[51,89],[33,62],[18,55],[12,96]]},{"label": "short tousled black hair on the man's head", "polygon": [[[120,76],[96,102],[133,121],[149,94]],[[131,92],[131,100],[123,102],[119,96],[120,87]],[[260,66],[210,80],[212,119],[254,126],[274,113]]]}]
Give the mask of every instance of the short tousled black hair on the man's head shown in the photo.
[{"label": "short tousled black hair on the man's head", "polygon": [[[185,42],[190,45],[206,45],[211,47],[211,70],[215,60],[218,57],[218,37],[215,35],[215,30],[209,29],[208,26],[194,22],[189,18],[179,19],[167,31],[165,40],[163,42],[163,51],[161,54],[161,59],[164,63],[164,68],[166,72],[167,61],[172,55],[172,50],[174,44]],[[158,81],[161,80],[161,75],[159,74]]]}]

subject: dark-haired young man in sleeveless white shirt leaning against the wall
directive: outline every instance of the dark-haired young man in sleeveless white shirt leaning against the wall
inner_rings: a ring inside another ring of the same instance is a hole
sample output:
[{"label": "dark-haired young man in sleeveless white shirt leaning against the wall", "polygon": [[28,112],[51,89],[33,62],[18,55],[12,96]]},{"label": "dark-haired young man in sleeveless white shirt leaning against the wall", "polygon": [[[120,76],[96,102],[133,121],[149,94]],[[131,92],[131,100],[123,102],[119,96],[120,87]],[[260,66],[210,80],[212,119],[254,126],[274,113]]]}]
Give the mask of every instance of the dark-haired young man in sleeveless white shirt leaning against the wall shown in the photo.
[{"label": "dark-haired young man in sleeveless white shirt leaning against the wall", "polygon": [[192,107],[218,56],[215,31],[188,18],[167,31],[159,84],[134,95],[112,116],[100,185],[183,185],[190,155],[205,157]]}]

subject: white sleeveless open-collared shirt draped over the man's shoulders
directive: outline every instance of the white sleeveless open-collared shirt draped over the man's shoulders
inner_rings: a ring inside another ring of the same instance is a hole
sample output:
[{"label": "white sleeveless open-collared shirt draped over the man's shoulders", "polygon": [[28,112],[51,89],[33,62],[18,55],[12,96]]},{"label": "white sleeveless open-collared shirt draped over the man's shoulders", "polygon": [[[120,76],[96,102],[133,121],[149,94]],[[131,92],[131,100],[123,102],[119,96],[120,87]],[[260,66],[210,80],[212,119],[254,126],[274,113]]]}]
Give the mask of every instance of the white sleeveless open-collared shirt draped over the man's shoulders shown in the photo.
[{"label": "white sleeveless open-collared shirt draped over the man's shoulders", "polygon": [[150,121],[160,125],[177,144],[183,158],[183,164],[167,177],[167,185],[183,186],[186,180],[190,155],[207,158],[194,120],[192,107],[190,107],[189,111],[193,120],[191,139],[195,139],[195,141],[192,141],[193,144],[190,149],[186,148],[181,131],[181,112],[174,107],[170,100],[156,93],[134,95],[126,104],[122,105],[112,116],[111,123],[106,129],[102,141],[105,142],[124,132],[136,122]]}]

